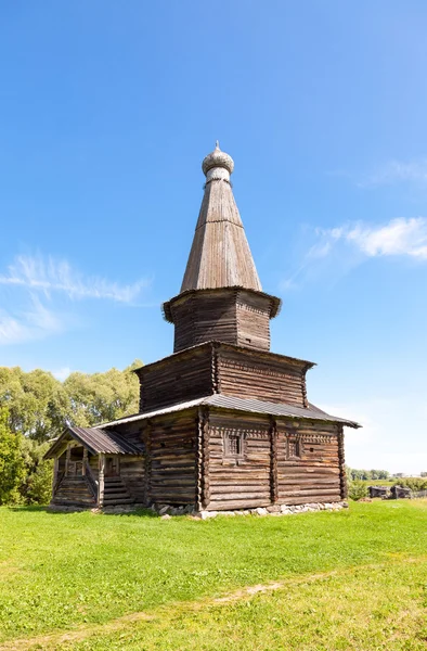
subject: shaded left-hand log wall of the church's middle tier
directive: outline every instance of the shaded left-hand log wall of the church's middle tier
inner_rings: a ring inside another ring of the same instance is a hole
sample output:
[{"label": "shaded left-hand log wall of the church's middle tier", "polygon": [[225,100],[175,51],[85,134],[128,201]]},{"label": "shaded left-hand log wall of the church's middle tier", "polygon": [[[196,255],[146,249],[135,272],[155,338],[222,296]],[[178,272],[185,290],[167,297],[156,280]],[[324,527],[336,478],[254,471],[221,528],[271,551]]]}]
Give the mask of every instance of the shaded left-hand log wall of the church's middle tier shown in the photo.
[{"label": "shaded left-hand log wall of the church's middle tier", "polygon": [[211,345],[192,348],[142,367],[140,411],[168,407],[212,393]]}]

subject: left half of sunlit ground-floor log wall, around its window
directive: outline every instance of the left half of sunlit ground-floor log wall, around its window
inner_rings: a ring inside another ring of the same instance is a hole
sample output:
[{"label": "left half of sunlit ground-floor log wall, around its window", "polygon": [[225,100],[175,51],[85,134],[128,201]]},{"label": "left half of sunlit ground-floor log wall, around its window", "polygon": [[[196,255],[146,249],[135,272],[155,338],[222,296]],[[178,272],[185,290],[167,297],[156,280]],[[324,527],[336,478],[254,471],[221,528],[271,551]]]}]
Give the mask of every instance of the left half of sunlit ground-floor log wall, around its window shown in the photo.
[{"label": "left half of sunlit ground-floor log wall, around its window", "polygon": [[[224,458],[224,436],[242,434],[244,459]],[[270,505],[271,443],[268,417],[209,414],[209,502],[207,509],[231,510]]]}]

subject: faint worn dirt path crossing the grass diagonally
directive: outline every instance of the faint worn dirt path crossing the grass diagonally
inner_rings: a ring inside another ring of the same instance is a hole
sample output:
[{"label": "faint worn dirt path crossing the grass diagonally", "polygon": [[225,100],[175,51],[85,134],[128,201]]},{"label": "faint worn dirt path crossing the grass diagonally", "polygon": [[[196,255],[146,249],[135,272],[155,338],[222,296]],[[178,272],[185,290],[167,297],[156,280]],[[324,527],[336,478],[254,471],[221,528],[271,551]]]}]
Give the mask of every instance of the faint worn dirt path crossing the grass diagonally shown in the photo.
[{"label": "faint worn dirt path crossing the grass diagonally", "polygon": [[24,651],[29,649],[55,649],[59,644],[64,642],[80,642],[86,638],[96,635],[96,634],[108,634],[125,629],[128,624],[134,622],[152,622],[154,620],[161,618],[163,616],[167,616],[170,610],[185,610],[186,612],[197,612],[198,610],[208,608],[209,605],[219,605],[221,603],[232,603],[240,601],[241,599],[247,599],[258,595],[260,592],[270,592],[274,590],[280,590],[286,586],[295,586],[298,584],[308,584],[314,583],[316,580],[323,580],[331,576],[345,576],[346,574],[352,574],[359,570],[368,570],[385,567],[388,565],[392,565],[394,563],[416,563],[419,561],[427,560],[427,556],[419,557],[404,557],[404,554],[389,554],[390,559],[388,561],[384,561],[381,563],[367,563],[364,565],[353,565],[351,567],[345,567],[341,570],[332,570],[329,572],[321,572],[316,574],[303,574],[299,576],[292,576],[287,578],[283,578],[276,582],[269,582],[266,584],[258,584],[255,586],[246,586],[244,588],[240,588],[238,590],[234,590],[233,592],[229,592],[223,597],[219,598],[204,598],[197,601],[180,601],[180,602],[171,602],[167,605],[163,605],[153,611],[143,611],[130,613],[128,615],[122,615],[121,617],[117,617],[116,620],[112,620],[106,624],[89,624],[79,626],[69,630],[68,633],[56,631],[48,635],[40,635],[33,638],[20,638],[15,640],[10,640],[3,642],[0,646],[0,651]]}]

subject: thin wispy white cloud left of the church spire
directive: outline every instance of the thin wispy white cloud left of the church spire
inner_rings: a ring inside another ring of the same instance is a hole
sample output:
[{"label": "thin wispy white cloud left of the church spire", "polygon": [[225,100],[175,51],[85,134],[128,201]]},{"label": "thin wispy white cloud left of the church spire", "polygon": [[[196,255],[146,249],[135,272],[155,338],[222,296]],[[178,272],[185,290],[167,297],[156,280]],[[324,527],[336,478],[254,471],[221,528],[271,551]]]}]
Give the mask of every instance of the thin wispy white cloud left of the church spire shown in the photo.
[{"label": "thin wispy white cloud left of the church spire", "polygon": [[0,284],[23,286],[44,294],[63,292],[69,298],[105,298],[132,303],[150,282],[143,279],[131,284],[120,284],[100,277],[85,277],[64,259],[21,255],[5,273],[0,275]]}]

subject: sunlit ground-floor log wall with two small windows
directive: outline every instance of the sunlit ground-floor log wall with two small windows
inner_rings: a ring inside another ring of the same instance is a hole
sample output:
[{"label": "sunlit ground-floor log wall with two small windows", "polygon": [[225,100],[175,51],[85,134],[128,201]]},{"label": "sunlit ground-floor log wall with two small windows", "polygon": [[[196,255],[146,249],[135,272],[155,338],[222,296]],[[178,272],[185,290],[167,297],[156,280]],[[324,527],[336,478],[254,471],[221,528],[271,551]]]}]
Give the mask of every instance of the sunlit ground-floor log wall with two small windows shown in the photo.
[{"label": "sunlit ground-floor log wall with two small windows", "polygon": [[[209,495],[204,508],[216,511],[344,499],[339,427],[211,411],[209,467],[205,468]],[[236,438],[242,447],[236,446]]]}]

